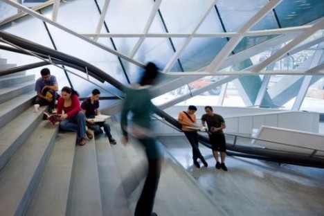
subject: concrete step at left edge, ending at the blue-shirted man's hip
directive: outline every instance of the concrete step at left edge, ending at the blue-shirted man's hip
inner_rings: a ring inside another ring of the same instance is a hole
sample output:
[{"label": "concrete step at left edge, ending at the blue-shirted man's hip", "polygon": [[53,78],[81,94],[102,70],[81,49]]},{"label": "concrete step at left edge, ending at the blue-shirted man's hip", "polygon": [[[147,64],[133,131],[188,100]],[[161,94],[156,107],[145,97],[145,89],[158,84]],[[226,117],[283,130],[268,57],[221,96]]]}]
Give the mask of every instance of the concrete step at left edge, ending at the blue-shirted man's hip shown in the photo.
[{"label": "concrete step at left edge, ending at the blue-shirted man's hip", "polygon": [[26,111],[33,105],[35,91],[21,93],[20,96],[10,98],[0,104],[0,128],[7,125],[13,118]]}]

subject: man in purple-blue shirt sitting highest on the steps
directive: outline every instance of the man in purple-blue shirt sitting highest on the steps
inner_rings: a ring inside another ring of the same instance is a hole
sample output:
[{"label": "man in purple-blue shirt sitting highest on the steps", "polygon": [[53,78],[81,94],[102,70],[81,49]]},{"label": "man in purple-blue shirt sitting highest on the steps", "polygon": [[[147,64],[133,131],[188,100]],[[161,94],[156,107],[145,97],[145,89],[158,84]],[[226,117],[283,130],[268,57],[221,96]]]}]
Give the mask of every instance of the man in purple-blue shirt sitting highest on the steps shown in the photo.
[{"label": "man in purple-blue shirt sitting highest on the steps", "polygon": [[51,71],[47,68],[40,71],[42,77],[38,78],[35,83],[35,91],[37,96],[34,104],[41,106],[48,105],[48,111],[52,113],[55,109],[55,100],[57,98],[58,84],[55,75],[51,75]]}]

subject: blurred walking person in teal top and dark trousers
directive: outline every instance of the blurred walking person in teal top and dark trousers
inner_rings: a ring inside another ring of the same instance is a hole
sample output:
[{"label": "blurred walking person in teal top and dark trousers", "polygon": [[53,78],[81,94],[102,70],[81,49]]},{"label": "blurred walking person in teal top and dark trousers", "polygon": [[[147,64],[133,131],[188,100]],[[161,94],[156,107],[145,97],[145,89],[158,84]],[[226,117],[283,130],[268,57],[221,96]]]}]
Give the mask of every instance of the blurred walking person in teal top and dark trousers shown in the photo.
[{"label": "blurred walking person in teal top and dark trousers", "polygon": [[[152,130],[151,114],[154,105],[151,102],[150,87],[156,81],[157,75],[158,68],[154,63],[149,62],[145,66],[140,82],[125,89],[125,101],[121,112],[120,126],[124,143],[129,141],[128,134],[134,136],[145,147],[148,161],[147,176],[136,204],[135,216],[156,215],[156,213],[152,213],[152,210],[159,184],[163,155]],[[130,125],[127,120],[129,112],[132,113],[132,124]]]}]

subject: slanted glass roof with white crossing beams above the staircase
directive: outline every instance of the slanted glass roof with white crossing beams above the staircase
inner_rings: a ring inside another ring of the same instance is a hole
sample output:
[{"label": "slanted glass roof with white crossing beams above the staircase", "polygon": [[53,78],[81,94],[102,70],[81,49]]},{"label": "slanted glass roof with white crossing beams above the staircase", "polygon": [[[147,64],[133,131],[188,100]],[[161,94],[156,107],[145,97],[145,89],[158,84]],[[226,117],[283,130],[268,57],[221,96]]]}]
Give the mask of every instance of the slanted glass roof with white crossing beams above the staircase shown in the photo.
[{"label": "slanted glass roof with white crossing beams above the staircase", "polygon": [[[123,84],[136,82],[141,66],[153,61],[171,77],[161,93],[206,75],[231,76],[240,83],[246,106],[280,107],[305,96],[298,90],[310,69],[316,68],[309,87],[323,80],[323,57],[315,57],[323,56],[323,8],[323,0],[1,0],[0,30],[78,57]],[[9,51],[0,50],[0,57],[18,65],[39,62]],[[61,86],[69,85],[66,74],[71,76],[83,96],[94,87],[78,71],[67,68],[81,78],[49,67]],[[38,75],[39,69],[30,73]],[[300,79],[285,87],[283,81],[265,83],[264,75]],[[264,84],[279,93],[273,96]],[[123,95],[107,82],[101,85],[109,90],[105,96]]]}]

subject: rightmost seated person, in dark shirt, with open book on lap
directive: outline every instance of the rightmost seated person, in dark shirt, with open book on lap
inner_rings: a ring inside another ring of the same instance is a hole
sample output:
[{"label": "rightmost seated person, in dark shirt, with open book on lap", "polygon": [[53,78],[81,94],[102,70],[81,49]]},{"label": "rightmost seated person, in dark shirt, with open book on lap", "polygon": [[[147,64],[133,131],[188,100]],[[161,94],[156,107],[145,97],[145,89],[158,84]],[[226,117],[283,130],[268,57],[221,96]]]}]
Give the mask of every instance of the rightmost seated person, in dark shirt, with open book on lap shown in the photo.
[{"label": "rightmost seated person, in dark shirt, with open book on lap", "polygon": [[99,98],[100,91],[98,89],[93,89],[91,96],[82,101],[81,107],[85,111],[85,115],[87,117],[87,126],[89,129],[93,130],[94,134],[102,134],[103,132],[101,127],[103,127],[105,133],[108,136],[109,143],[115,145],[117,142],[111,136],[109,124],[106,121],[95,122],[93,120],[95,116],[100,115]]}]

